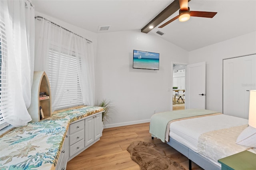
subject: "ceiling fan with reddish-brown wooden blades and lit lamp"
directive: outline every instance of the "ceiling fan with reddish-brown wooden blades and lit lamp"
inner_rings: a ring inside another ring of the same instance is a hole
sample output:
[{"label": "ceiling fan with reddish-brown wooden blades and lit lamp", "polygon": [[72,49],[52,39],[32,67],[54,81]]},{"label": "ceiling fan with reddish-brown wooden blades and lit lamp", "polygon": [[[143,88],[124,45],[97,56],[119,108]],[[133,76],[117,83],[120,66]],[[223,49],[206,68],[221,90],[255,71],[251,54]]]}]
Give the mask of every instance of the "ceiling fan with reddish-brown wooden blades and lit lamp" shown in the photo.
[{"label": "ceiling fan with reddish-brown wooden blades and lit lamp", "polygon": [[180,3],[180,10],[179,10],[179,15],[172,18],[168,22],[162,24],[158,28],[163,28],[167,24],[170,24],[174,20],[179,18],[180,22],[184,22],[189,20],[190,16],[195,16],[195,17],[204,17],[204,18],[213,18],[217,12],[204,12],[204,11],[190,11],[190,8],[188,7],[188,0],[179,0]]}]

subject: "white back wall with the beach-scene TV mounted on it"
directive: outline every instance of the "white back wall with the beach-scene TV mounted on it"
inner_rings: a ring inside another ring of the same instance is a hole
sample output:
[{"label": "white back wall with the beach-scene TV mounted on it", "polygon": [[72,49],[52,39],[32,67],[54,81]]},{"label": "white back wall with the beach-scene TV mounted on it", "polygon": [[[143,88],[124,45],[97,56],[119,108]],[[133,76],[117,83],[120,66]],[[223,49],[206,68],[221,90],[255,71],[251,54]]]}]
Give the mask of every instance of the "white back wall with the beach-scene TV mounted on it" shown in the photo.
[{"label": "white back wall with the beach-scene TV mounted on it", "polygon": [[[133,49],[160,53],[160,69],[133,69]],[[158,36],[138,31],[98,34],[96,99],[109,99],[116,111],[106,127],[149,122],[172,106],[171,61],[188,63],[188,52]],[[170,88],[170,91],[168,91]]]}]

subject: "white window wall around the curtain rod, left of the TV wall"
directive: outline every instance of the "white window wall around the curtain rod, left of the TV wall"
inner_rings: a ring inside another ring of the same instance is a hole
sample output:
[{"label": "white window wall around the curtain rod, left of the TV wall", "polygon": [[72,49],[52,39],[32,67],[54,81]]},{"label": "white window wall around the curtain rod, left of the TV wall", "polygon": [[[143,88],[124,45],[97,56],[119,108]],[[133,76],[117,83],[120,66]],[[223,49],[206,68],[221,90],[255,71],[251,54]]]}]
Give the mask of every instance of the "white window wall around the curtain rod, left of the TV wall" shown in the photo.
[{"label": "white window wall around the curtain rod, left of the TV wall", "polygon": [[[71,24],[68,24],[66,22],[63,22],[61,20],[58,20],[56,18],[53,18],[51,16],[47,16],[45,14],[42,14],[40,12],[35,12],[35,16],[42,16],[56,24],[58,24],[59,26],[62,26],[63,28],[66,28],[67,30],[70,30],[71,32],[74,32],[76,34],[78,34],[79,36],[82,36],[84,38],[86,38],[87,40],[90,40],[93,42],[93,48],[94,48],[94,56],[97,55],[97,34],[94,32],[90,32],[88,30],[84,30],[82,28],[79,28],[77,26],[73,26]],[[35,53],[37,50],[37,43],[38,43],[38,35],[40,33],[40,28],[37,26],[36,24],[36,30],[35,30]],[[40,61],[39,58],[37,58],[37,56],[35,55],[35,67],[34,67],[34,71],[43,71],[42,69],[42,61]]]}]

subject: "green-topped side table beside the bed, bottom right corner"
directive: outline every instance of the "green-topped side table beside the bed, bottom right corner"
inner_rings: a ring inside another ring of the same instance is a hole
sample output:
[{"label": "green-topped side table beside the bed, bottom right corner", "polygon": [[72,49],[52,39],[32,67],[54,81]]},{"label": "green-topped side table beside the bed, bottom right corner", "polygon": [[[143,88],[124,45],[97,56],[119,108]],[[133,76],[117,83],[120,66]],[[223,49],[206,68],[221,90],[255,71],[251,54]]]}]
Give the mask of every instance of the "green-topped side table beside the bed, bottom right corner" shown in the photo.
[{"label": "green-topped side table beside the bed, bottom right corner", "polygon": [[248,150],[219,159],[218,162],[222,170],[256,170],[256,154]]}]

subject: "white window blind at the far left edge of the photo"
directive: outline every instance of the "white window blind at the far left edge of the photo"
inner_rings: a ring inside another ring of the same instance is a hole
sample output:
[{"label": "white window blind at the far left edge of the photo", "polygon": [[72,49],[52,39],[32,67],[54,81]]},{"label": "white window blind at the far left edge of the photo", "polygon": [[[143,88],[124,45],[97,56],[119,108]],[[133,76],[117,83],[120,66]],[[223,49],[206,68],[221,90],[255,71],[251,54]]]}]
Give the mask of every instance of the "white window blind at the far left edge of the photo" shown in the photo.
[{"label": "white window blind at the far left edge of the photo", "polygon": [[[1,10],[2,11],[2,10]],[[5,32],[5,24],[2,12],[0,14],[0,130],[4,127],[10,125],[7,123],[2,113],[6,113],[9,110],[11,105],[10,101],[8,100],[8,93],[6,87],[7,81],[7,42],[6,42],[6,32]]]}]

